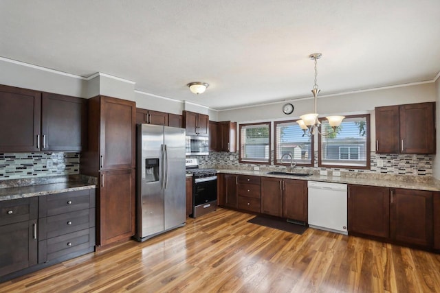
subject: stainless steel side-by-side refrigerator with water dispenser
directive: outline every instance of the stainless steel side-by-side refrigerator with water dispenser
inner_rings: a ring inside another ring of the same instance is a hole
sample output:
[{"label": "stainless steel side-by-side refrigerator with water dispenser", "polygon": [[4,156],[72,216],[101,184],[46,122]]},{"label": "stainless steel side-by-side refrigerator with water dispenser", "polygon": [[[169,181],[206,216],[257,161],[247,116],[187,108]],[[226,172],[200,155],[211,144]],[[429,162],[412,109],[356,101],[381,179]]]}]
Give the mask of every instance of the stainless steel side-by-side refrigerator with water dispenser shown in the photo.
[{"label": "stainless steel side-by-side refrigerator with water dispenser", "polygon": [[144,241],[186,221],[185,130],[137,126],[136,235]]}]

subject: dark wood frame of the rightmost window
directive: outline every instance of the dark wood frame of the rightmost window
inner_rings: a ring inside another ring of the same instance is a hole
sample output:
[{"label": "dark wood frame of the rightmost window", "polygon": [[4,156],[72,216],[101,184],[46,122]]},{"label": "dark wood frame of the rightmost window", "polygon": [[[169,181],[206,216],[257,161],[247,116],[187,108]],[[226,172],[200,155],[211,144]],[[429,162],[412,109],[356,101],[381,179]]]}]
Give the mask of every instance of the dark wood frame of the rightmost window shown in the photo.
[{"label": "dark wood frame of the rightmost window", "polygon": [[[322,164],[322,135],[318,134],[318,167],[323,168],[336,168],[336,169],[371,169],[371,124],[370,124],[370,114],[361,115],[347,115],[345,119],[350,118],[365,118],[366,121],[366,165],[329,165]],[[325,117],[319,119],[320,122],[327,121]]]}]

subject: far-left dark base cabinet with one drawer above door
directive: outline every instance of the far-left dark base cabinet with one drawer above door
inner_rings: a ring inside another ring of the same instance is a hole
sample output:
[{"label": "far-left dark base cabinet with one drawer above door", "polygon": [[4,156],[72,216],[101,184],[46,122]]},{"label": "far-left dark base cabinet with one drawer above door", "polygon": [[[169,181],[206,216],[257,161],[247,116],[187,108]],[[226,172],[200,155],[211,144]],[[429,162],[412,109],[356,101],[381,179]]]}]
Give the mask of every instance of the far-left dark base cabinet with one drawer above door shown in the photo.
[{"label": "far-left dark base cabinet with one drawer above door", "polygon": [[37,198],[0,202],[0,277],[37,263]]}]

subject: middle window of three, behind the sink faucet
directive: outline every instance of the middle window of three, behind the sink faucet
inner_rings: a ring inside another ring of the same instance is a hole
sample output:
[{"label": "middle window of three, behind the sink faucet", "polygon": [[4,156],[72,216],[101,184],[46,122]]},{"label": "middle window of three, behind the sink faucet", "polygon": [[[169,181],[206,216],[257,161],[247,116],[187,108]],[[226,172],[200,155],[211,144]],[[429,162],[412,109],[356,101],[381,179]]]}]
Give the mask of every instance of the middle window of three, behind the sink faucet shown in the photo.
[{"label": "middle window of three, behind the sink faucet", "polygon": [[314,138],[303,136],[304,132],[296,121],[277,121],[274,131],[275,165],[290,165],[290,158],[285,154],[292,154],[297,165],[314,165]]}]

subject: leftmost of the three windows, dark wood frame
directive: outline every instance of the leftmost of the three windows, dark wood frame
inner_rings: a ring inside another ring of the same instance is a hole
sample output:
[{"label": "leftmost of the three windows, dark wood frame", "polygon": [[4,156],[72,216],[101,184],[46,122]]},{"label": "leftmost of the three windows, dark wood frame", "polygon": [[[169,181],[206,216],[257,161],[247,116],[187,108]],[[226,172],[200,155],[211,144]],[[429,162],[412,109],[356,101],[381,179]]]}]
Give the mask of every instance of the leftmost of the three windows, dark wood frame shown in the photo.
[{"label": "leftmost of the three windows, dark wood frame", "polygon": [[270,164],[270,122],[240,124],[240,163]]}]

